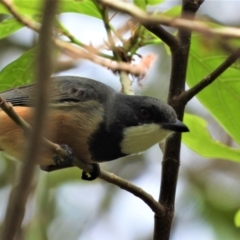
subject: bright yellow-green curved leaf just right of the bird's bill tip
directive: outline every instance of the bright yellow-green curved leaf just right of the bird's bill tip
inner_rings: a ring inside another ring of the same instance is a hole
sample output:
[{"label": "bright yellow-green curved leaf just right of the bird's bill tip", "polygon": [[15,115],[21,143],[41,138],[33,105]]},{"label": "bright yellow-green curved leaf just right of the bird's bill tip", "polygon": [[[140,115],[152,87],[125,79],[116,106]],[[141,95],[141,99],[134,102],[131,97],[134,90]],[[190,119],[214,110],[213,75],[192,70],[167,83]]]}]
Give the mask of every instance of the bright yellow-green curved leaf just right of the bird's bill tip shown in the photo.
[{"label": "bright yellow-green curved leaf just right of the bird's bill tip", "polygon": [[206,158],[240,162],[240,149],[231,148],[214,140],[207,130],[207,122],[196,115],[185,114],[184,123],[190,129],[182,135],[183,142],[194,152]]}]

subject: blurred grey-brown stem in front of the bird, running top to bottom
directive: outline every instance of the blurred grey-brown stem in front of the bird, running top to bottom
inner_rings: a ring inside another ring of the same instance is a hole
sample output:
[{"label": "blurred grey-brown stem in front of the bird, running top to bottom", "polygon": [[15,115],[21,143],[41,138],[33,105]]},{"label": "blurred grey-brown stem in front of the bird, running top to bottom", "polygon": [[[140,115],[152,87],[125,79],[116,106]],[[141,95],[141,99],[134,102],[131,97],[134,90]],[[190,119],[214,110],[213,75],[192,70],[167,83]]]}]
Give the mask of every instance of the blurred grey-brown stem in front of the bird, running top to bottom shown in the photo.
[{"label": "blurred grey-brown stem in front of the bird, running top to bottom", "polygon": [[[9,5],[10,6],[10,5]],[[21,228],[25,205],[31,189],[35,164],[38,162],[40,146],[42,143],[44,120],[47,113],[49,98],[49,77],[52,72],[52,24],[57,7],[57,0],[45,1],[42,27],[37,55],[36,80],[38,90],[36,93],[36,112],[34,116],[34,130],[30,136],[24,165],[21,169],[19,184],[11,192],[8,202],[5,221],[2,229],[3,240],[13,240]]]}]

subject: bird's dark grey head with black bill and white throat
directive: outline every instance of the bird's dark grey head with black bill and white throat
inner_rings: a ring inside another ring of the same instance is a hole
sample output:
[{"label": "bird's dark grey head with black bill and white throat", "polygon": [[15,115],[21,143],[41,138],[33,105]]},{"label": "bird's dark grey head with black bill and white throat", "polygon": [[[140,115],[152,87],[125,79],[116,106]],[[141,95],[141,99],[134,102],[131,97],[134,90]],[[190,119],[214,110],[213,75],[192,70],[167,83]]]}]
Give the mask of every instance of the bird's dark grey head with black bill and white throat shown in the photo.
[{"label": "bird's dark grey head with black bill and white throat", "polygon": [[147,96],[120,95],[116,119],[122,125],[121,151],[124,154],[143,152],[174,132],[188,132],[174,109]]}]

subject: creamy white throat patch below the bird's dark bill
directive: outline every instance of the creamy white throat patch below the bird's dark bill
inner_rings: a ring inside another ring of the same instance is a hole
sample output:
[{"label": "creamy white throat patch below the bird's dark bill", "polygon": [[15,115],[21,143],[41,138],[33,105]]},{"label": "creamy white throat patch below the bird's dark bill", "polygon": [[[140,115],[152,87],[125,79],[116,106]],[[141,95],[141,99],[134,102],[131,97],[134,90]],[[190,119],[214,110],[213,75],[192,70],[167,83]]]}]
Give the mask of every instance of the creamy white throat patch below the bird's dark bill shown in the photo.
[{"label": "creamy white throat patch below the bird's dark bill", "polygon": [[144,152],[171,133],[172,131],[164,130],[155,123],[129,127],[124,130],[121,150],[124,154]]}]

